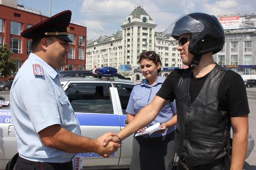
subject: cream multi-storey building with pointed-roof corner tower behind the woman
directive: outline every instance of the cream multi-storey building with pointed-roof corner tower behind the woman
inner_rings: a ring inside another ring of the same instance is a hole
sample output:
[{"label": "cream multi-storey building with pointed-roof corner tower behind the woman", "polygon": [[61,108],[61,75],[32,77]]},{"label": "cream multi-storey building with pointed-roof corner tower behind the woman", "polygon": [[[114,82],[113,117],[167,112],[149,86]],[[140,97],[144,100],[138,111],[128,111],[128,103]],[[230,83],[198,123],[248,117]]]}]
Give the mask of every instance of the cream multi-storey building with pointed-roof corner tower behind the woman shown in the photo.
[{"label": "cream multi-storey building with pointed-roof corner tower behind the woman", "polygon": [[138,56],[148,50],[155,50],[160,55],[163,73],[170,73],[174,67],[182,66],[179,52],[174,46],[176,44],[170,44],[174,39],[163,41],[160,32],[155,32],[154,20],[141,6],[126,17],[121,27],[122,31],[118,31],[115,35],[101,36],[98,40],[88,41],[86,69],[113,66],[119,70],[119,73],[141,76]]}]

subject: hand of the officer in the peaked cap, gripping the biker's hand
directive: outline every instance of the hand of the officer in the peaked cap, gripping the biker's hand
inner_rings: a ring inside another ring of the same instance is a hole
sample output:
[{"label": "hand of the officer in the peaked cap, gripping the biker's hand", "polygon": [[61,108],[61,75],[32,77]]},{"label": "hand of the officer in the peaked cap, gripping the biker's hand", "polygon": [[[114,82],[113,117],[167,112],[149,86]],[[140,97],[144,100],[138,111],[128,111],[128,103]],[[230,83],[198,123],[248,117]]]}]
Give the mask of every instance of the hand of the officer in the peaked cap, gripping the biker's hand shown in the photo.
[{"label": "hand of the officer in the peaked cap, gripping the biker's hand", "polygon": [[[99,147],[97,148],[96,153],[99,155],[103,155],[104,157],[109,157],[113,152],[117,151],[119,147],[121,147],[121,144],[119,144],[119,140],[117,137],[114,137],[113,132],[105,133],[101,137],[97,138],[96,140],[99,143]],[[114,137],[117,138],[116,141],[109,141],[106,143],[106,145],[102,145],[104,143],[105,139],[108,137]]]}]

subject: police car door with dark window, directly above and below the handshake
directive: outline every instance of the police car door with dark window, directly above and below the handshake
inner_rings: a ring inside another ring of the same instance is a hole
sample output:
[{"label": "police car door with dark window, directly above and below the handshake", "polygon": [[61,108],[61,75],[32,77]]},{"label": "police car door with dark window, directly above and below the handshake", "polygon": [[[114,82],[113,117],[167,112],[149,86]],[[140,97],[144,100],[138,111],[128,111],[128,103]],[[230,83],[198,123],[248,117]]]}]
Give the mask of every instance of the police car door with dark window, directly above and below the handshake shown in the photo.
[{"label": "police car door with dark window, directly above and below the handshake", "polygon": [[[67,90],[69,101],[79,120],[82,136],[98,138],[109,131],[118,133],[120,122],[110,82],[71,83]],[[83,165],[117,165],[120,150],[110,158],[95,153],[77,154],[83,158]]]}]

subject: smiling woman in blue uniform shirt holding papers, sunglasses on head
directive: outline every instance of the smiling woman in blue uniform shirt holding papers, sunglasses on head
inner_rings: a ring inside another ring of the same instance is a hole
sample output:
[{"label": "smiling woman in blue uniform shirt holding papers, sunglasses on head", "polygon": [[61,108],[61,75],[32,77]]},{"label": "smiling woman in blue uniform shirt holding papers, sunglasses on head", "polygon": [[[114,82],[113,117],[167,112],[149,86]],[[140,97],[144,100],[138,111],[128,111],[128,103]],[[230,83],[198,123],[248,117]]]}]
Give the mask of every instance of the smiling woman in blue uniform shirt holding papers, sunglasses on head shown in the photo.
[{"label": "smiling woman in blue uniform shirt holding papers, sunglasses on head", "polygon": [[[154,51],[143,52],[139,55],[141,73],[146,78],[134,86],[127,105],[127,121],[133,121],[136,114],[154,98],[162,87],[164,79],[159,75],[161,61]],[[147,116],[147,115],[145,115]],[[174,137],[177,121],[176,105],[169,102],[148,126],[160,122],[163,128],[150,134],[133,138],[133,152],[130,169],[171,170],[174,164]],[[143,131],[147,127],[139,130]]]}]

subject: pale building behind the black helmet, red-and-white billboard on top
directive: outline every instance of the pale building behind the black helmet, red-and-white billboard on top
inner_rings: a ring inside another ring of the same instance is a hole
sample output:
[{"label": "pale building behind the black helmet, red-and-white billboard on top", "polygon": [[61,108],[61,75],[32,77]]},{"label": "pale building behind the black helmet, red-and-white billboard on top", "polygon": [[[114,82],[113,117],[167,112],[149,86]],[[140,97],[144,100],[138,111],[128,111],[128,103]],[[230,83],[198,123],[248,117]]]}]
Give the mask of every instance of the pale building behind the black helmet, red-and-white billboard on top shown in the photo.
[{"label": "pale building behind the black helmet, red-and-white billboard on top", "polygon": [[255,75],[256,14],[216,16],[225,29],[225,45],[214,60],[239,74]]}]

